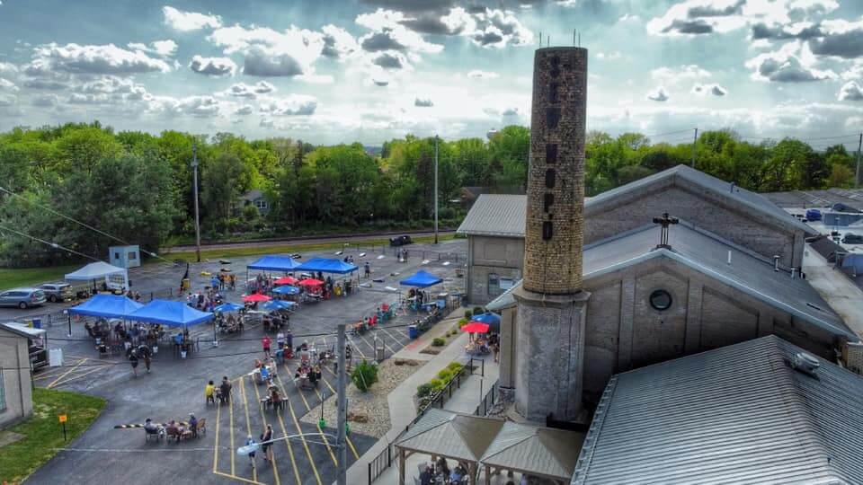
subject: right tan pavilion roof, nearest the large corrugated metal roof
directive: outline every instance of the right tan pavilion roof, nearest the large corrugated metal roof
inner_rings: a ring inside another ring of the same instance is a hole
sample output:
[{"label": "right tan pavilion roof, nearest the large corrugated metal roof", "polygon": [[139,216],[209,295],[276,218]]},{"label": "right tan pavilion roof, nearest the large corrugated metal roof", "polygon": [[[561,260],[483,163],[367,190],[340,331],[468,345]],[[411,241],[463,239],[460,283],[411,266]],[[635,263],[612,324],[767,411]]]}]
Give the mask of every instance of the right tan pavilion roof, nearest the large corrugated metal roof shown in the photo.
[{"label": "right tan pavilion roof, nearest the large corrugated metal roof", "polygon": [[583,433],[507,421],[485,450],[483,464],[551,478],[573,476]]}]

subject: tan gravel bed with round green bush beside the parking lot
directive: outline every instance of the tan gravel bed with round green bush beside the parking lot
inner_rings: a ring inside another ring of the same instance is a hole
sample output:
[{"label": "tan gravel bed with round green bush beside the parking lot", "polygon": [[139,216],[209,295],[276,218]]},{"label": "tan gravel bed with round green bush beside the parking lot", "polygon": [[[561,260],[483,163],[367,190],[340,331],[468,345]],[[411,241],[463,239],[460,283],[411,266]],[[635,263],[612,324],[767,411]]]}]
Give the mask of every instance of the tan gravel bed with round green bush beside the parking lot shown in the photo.
[{"label": "tan gravel bed with round green bush beside the parking lot", "polygon": [[[396,366],[396,362],[403,364]],[[390,428],[387,395],[424,364],[425,362],[419,360],[387,358],[378,364],[378,382],[371,386],[369,392],[360,392],[352,383],[348,384],[348,422],[351,424],[351,432],[378,438],[386,435]],[[331,428],[336,422],[335,403],[334,397],[324,403],[324,419]],[[318,419],[320,410],[309,412],[300,420],[317,424]]]}]

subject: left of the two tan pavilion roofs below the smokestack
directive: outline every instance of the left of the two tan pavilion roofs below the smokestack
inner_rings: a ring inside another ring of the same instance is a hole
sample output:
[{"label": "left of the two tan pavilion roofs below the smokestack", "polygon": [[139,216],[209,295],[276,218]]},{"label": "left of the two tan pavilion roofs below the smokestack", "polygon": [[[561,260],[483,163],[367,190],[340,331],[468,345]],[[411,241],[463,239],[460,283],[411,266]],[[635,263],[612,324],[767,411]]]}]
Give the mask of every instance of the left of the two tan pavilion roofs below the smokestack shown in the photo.
[{"label": "left of the two tan pavilion roofs below the smokestack", "polygon": [[420,453],[477,462],[503,427],[503,419],[432,408],[395,445]]}]

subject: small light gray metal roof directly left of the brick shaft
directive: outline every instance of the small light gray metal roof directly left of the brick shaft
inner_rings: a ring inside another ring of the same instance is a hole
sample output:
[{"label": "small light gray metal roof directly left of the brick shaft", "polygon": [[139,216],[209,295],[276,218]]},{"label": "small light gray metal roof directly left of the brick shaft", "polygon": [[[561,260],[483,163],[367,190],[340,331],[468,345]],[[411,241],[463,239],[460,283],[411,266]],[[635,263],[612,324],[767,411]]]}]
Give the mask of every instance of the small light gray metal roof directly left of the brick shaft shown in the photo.
[{"label": "small light gray metal roof directly left of the brick shaft", "polygon": [[524,237],[527,207],[527,196],[481,194],[456,233]]}]

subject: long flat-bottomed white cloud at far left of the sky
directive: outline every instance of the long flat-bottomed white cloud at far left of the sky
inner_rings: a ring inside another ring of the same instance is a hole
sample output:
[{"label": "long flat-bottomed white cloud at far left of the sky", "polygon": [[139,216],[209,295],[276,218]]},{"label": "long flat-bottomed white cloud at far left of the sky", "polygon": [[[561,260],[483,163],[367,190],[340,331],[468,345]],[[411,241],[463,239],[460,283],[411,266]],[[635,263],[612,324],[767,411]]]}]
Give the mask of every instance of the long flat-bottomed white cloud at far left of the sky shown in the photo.
[{"label": "long flat-bottomed white cloud at far left of the sky", "polygon": [[143,51],[131,51],[113,44],[65,46],[50,43],[33,49],[33,57],[24,67],[27,75],[48,75],[59,71],[71,74],[134,75],[168,72],[162,59],[147,56]]}]

